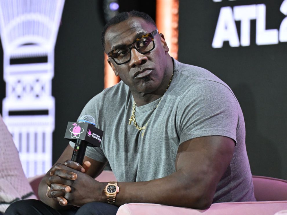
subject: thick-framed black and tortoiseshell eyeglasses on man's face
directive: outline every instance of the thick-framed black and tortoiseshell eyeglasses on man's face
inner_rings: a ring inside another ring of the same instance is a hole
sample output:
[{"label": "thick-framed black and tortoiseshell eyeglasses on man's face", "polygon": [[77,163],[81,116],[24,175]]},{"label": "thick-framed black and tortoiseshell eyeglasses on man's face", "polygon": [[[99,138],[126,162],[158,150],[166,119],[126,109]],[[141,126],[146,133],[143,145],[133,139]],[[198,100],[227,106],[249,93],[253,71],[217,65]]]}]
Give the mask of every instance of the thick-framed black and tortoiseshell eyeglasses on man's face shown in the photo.
[{"label": "thick-framed black and tortoiseshell eyeglasses on man's face", "polygon": [[135,48],[139,53],[146,54],[155,48],[154,37],[157,35],[158,30],[154,30],[149,34],[145,34],[137,38],[132,44],[124,48],[118,48],[108,53],[108,57],[112,58],[117,65],[127,63],[131,59],[131,50]]}]

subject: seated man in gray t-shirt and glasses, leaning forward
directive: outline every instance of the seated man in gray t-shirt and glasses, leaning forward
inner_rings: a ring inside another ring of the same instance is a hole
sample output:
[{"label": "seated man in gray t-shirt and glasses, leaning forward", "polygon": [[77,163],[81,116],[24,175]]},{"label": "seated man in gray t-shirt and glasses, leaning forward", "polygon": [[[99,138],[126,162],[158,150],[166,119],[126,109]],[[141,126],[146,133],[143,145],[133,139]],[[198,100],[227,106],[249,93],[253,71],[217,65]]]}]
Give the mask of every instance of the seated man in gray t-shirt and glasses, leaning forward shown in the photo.
[{"label": "seated man in gray t-shirt and glasses, leaning forward", "polygon": [[[41,201],[77,214],[115,214],[132,202],[206,209],[255,201],[244,119],[230,88],[207,70],[172,59],[147,14],[117,15],[102,42],[122,81],[80,115],[93,116],[104,130],[101,147],[88,148],[80,166],[69,160],[74,145],[68,145],[39,186]],[[94,180],[107,161],[119,181],[112,185]],[[105,187],[115,194],[109,197]]]}]

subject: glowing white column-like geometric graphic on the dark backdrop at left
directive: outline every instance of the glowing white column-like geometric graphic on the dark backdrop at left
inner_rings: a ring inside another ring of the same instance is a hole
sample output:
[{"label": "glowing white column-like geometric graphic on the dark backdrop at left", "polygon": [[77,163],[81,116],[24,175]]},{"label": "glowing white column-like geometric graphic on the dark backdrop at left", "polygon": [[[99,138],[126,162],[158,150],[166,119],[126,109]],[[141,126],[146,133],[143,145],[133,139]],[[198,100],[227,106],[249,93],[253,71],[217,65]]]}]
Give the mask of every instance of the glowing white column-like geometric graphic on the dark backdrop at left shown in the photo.
[{"label": "glowing white column-like geometric graphic on the dark backdrop at left", "polygon": [[64,0],[1,0],[3,120],[27,177],[52,165],[54,48]]}]

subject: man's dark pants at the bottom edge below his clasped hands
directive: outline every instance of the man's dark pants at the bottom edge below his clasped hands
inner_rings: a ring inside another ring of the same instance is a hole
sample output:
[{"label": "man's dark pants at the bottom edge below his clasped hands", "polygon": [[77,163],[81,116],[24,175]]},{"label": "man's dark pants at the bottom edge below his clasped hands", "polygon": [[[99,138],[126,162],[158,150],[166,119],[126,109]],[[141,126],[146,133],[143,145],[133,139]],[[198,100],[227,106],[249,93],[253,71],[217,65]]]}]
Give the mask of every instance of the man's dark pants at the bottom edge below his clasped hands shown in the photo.
[{"label": "man's dark pants at the bottom edge below his clasped hands", "polygon": [[90,202],[82,207],[73,206],[69,210],[55,210],[39,200],[27,199],[12,203],[4,215],[113,215],[117,210],[117,206],[103,202]]}]

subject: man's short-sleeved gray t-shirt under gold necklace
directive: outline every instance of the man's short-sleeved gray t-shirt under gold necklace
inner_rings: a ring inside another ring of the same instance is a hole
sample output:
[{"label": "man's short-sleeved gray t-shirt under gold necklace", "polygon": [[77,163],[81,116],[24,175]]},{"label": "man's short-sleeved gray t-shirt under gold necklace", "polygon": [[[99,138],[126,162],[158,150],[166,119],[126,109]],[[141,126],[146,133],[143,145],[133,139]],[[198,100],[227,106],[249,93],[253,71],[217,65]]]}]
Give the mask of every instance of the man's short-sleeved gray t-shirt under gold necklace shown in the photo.
[{"label": "man's short-sleeved gray t-shirt under gold necklace", "polygon": [[80,117],[93,116],[96,127],[104,131],[101,147],[88,147],[86,156],[100,162],[108,160],[118,181],[149,181],[175,172],[177,149],[184,141],[227,136],[236,146],[213,203],[256,201],[244,118],[233,92],[209,71],[173,61],[173,79],[160,103],[158,99],[136,107],[137,124],[144,126],[148,121],[144,136],[143,130],[129,125],[134,100],[122,81],[86,104]]}]

